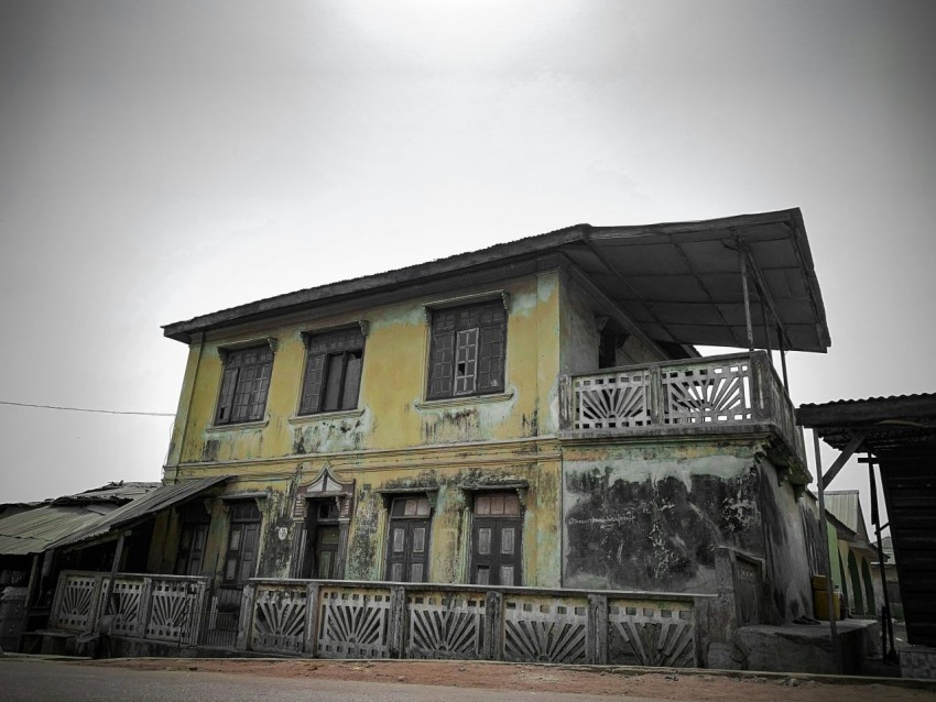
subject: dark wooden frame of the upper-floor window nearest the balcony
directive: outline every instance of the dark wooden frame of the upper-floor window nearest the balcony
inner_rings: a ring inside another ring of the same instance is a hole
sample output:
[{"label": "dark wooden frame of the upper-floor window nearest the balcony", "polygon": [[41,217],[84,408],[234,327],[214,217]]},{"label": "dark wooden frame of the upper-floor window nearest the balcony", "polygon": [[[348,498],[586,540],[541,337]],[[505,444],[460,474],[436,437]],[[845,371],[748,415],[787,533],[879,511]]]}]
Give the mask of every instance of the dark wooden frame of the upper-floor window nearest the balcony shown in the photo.
[{"label": "dark wooden frame of the upper-floor window nearest the balcony", "polygon": [[[425,384],[427,401],[483,397],[505,392],[510,310],[507,304],[508,295],[498,295],[480,298],[472,296],[457,303],[425,306],[428,326]],[[485,316],[488,314],[492,314],[494,319],[486,322]],[[486,352],[486,345],[497,344],[500,347],[499,351]],[[459,365],[464,369],[461,374]],[[498,366],[499,382],[494,385],[490,382],[482,385],[482,376],[490,376]],[[471,379],[470,386],[468,379]],[[464,383],[461,387],[459,382]]]}]

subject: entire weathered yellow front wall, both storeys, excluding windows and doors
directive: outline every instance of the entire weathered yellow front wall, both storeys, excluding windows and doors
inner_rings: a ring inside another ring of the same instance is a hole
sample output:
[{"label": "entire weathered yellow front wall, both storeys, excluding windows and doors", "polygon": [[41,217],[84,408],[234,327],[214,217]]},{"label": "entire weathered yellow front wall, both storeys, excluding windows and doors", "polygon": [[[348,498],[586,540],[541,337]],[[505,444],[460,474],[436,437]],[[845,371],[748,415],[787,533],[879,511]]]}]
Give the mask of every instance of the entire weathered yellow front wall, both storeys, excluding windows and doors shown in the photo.
[{"label": "entire weathered yellow front wall, both storeys, excluding windows and doors", "polygon": [[[491,289],[491,288],[487,288]],[[559,273],[547,271],[502,283],[510,294],[505,392],[492,397],[424,401],[428,327],[424,304],[411,299],[324,319],[242,327],[191,347],[179,413],[166,465],[167,480],[228,474],[228,496],[266,491],[258,574],[290,574],[296,489],[327,464],[355,483],[346,578],[384,577],[387,511],[380,491],[438,487],[429,541],[428,578],[467,582],[471,493],[477,484],[526,482],[523,584],[558,586],[560,463],[558,416]],[[486,289],[454,289],[458,297]],[[306,350],[302,333],[369,322],[358,410],[296,417]],[[248,339],[276,339],[266,418],[247,426],[214,427],[221,382],[218,353]],[[171,569],[178,525],[166,520],[164,544],[151,564]],[[280,529],[285,527],[285,538]],[[217,500],[204,574],[220,575],[228,519]],[[164,571],[165,572],[165,571]]]}]

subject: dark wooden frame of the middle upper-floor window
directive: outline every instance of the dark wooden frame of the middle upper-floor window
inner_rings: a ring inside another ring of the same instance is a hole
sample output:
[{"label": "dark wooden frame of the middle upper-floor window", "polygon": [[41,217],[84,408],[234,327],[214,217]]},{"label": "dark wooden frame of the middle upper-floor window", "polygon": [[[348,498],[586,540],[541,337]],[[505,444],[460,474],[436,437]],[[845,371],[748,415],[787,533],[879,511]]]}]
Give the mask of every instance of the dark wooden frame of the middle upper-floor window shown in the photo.
[{"label": "dark wooden frame of the middle upper-floor window", "polygon": [[[302,333],[303,343],[305,344],[305,363],[303,365],[302,383],[300,384],[296,417],[314,417],[315,415],[324,415],[336,412],[353,412],[360,406],[368,331],[369,325],[361,321],[353,326],[304,331]],[[334,349],[328,348],[329,338],[334,339],[345,334],[356,334],[360,340],[359,343],[339,344],[339,348]],[[315,344],[323,342],[326,347],[324,349],[316,350]],[[348,393],[349,390],[347,386],[349,361],[356,353],[359,359],[359,369],[357,372],[357,381],[355,383],[353,404],[346,406],[348,402],[346,393]],[[328,381],[331,372],[329,361],[333,358],[341,359],[340,377],[338,380],[338,398],[336,407],[326,407],[326,398],[329,392]],[[323,360],[319,369],[314,369],[312,366],[316,359]],[[319,379],[317,381],[313,381],[312,374],[316,371],[319,373]],[[318,385],[317,393],[309,391],[309,383],[313,382]],[[317,401],[313,401],[315,397],[317,397]]]}]

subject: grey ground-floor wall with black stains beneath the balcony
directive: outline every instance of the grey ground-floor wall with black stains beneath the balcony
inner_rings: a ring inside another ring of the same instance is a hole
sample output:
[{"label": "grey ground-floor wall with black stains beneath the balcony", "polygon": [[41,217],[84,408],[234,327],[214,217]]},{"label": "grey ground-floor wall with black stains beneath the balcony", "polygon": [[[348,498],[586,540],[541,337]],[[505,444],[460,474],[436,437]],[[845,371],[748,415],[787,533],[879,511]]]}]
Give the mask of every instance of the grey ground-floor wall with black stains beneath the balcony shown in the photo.
[{"label": "grey ground-floor wall with black stains beneath the balcony", "polygon": [[796,502],[752,440],[564,450],[569,588],[715,593],[715,553],[766,559],[774,618],[807,613]]}]

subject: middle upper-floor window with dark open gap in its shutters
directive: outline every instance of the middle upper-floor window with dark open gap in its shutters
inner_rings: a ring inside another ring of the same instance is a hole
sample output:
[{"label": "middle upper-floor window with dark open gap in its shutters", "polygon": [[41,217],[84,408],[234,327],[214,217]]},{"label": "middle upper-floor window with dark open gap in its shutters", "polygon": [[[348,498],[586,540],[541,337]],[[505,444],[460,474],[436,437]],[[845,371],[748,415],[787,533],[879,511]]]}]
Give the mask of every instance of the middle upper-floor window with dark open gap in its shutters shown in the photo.
[{"label": "middle upper-floor window with dark open gap in its shutters", "polygon": [[300,414],[355,409],[361,386],[364,336],[360,329],[341,329],[307,337]]}]

